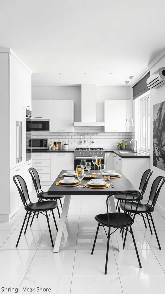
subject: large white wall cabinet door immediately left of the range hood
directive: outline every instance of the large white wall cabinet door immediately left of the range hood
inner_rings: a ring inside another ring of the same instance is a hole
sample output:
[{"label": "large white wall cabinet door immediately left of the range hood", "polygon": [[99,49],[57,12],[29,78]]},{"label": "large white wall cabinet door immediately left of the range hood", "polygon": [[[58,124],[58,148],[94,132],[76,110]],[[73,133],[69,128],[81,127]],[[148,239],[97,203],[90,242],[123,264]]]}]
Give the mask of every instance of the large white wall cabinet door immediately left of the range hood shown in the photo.
[{"label": "large white wall cabinet door immediately left of the range hood", "polygon": [[50,132],[73,132],[73,100],[50,100]]}]

